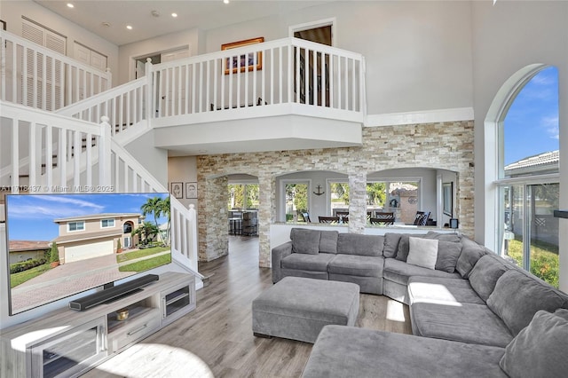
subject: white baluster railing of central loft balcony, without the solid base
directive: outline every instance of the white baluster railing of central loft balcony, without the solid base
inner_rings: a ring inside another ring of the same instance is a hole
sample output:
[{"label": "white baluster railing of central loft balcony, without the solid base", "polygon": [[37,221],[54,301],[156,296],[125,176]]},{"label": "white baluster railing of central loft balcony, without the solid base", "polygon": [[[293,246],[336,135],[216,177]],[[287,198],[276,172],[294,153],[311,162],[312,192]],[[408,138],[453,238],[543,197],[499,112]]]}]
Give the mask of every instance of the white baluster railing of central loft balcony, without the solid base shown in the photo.
[{"label": "white baluster railing of central loft balcony, without the solid base", "polygon": [[366,110],[362,55],[297,38],[175,60],[151,71],[154,118],[289,104],[334,114]]}]

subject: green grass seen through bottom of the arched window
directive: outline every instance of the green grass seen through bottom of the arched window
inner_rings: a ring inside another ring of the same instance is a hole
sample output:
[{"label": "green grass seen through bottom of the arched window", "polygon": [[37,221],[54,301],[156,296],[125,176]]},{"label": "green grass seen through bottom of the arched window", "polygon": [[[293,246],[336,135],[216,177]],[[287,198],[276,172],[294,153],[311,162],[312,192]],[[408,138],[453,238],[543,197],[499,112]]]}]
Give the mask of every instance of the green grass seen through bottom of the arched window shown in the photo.
[{"label": "green grass seen through bottom of the arched window", "polygon": [[[509,241],[509,256],[519,266],[523,266],[523,243],[521,240]],[[560,267],[558,264],[558,246],[539,240],[531,242],[531,272],[553,287],[558,287]]]}]

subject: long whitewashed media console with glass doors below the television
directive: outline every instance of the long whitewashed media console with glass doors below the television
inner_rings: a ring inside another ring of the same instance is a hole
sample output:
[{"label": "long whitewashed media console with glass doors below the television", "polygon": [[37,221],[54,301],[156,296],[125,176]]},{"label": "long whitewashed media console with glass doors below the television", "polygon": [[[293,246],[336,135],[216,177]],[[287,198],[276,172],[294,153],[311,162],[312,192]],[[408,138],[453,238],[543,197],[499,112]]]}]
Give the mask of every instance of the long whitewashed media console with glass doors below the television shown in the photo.
[{"label": "long whitewashed media console with glass doors below the television", "polygon": [[[127,309],[119,320],[117,311]],[[168,272],[86,311],[62,309],[3,329],[0,376],[75,377],[195,309],[195,278]]]}]

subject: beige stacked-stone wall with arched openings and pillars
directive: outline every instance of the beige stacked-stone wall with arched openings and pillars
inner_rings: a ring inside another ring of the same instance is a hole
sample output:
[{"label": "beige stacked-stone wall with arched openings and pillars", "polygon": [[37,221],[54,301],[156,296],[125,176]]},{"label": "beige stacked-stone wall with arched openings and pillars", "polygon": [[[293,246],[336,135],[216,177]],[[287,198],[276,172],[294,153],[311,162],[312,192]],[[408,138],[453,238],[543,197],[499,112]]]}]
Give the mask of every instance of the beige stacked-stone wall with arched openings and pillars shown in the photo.
[{"label": "beige stacked-stone wall with arched openings and pillars", "polygon": [[226,211],[220,211],[226,209],[226,179],[223,182],[216,177],[230,174],[248,174],[259,180],[260,266],[270,266],[271,261],[269,238],[270,224],[276,217],[275,177],[301,170],[333,170],[349,176],[350,232],[363,232],[365,227],[367,173],[400,168],[453,170],[458,181],[456,217],[460,219],[461,232],[472,236],[473,141],[473,121],[438,122],[364,128],[360,147],[199,156],[200,259],[209,261],[227,253]]}]

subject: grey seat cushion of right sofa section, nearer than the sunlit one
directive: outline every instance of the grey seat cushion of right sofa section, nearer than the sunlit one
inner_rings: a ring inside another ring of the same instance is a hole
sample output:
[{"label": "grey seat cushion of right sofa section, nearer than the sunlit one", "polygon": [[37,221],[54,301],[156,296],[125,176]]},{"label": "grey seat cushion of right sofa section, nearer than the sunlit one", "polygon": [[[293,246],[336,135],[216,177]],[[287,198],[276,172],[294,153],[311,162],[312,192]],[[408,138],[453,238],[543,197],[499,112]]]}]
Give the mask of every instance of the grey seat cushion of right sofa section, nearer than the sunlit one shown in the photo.
[{"label": "grey seat cushion of right sofa section, nearer than the sunlit one", "polygon": [[410,307],[414,335],[505,347],[513,335],[485,304],[414,303]]}]

